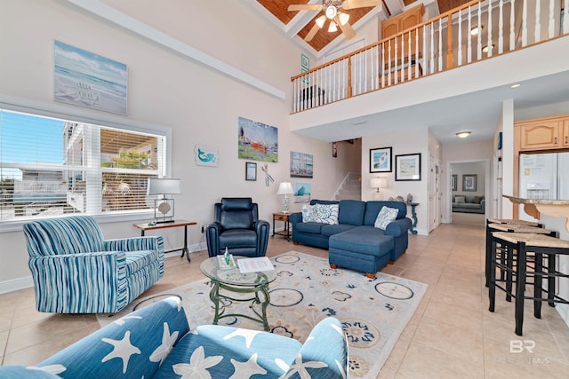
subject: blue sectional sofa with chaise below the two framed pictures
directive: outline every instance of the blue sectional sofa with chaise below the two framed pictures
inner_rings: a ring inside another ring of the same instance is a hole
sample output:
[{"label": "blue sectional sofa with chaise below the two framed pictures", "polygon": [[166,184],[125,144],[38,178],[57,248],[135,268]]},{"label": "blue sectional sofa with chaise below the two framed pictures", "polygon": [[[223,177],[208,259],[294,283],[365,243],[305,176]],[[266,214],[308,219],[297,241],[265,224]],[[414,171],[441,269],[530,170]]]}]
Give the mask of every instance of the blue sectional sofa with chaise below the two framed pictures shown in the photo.
[{"label": "blue sectional sofa with chaise below the two framed pictures", "polygon": [[[289,217],[293,225],[294,244],[304,243],[321,249],[329,249],[332,266],[366,272],[374,277],[375,272],[394,262],[409,245],[408,231],[412,221],[407,215],[407,206],[401,201],[322,201],[314,204],[339,204],[338,224],[302,222],[302,213]],[[383,206],[397,209],[397,218],[385,230],[373,226]]]}]

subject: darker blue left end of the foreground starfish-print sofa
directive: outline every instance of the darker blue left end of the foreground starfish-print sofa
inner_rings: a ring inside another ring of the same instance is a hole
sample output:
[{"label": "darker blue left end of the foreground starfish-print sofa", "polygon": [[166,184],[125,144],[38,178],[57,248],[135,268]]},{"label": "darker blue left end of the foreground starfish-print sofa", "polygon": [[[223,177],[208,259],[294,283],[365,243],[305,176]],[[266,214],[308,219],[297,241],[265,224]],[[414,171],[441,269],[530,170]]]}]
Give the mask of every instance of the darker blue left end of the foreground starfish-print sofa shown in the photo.
[{"label": "darker blue left end of the foreground starfish-print sofa", "polygon": [[39,363],[63,378],[150,378],[189,331],[178,297],[124,316]]}]

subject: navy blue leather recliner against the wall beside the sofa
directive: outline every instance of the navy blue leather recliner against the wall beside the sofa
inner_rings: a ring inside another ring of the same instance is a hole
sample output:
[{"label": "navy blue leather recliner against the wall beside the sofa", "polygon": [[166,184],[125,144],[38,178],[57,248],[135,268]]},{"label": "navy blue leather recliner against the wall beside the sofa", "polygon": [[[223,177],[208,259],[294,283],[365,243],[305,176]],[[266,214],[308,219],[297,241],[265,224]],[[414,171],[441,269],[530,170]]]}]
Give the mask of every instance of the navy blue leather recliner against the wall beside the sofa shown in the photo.
[{"label": "navy blue leather recliner against the wall beside the sofa", "polygon": [[269,225],[259,219],[259,209],[250,197],[222,198],[215,203],[215,221],[205,234],[210,257],[225,252],[242,257],[264,257]]}]

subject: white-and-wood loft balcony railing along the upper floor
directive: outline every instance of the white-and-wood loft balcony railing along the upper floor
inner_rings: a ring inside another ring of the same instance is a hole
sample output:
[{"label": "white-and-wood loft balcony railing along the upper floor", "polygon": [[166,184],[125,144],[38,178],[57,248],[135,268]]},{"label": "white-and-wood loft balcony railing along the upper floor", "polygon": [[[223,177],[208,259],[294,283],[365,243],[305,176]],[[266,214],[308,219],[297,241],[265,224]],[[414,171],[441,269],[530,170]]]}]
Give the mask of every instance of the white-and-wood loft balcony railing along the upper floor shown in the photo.
[{"label": "white-and-wood loft balcony railing along the upper floor", "polygon": [[565,2],[475,0],[464,4],[293,76],[293,113],[565,36],[569,33]]}]

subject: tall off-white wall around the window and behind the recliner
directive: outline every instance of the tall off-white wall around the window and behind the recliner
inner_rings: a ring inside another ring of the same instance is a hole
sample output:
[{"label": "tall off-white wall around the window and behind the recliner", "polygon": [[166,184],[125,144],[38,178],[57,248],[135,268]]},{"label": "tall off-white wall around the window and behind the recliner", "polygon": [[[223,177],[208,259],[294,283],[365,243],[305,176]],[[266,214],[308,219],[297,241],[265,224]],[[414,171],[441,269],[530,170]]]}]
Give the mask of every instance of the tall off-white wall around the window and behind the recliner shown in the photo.
[{"label": "tall off-white wall around the window and behind the recliner", "polygon": [[[216,2],[182,0],[106,3],[281,89],[287,99],[277,99],[75,5],[55,0],[4,2],[0,12],[0,94],[52,106],[54,39],[123,62],[129,69],[128,117],[100,112],[101,117],[172,128],[172,176],[181,178],[183,192],[174,197],[176,214],[198,225],[212,221],[212,204],[222,196],[251,196],[260,203],[260,217],[271,220],[271,213],[281,204],[276,195],[278,182],[294,181],[289,175],[291,151],[314,155],[314,178],[306,180],[314,198],[331,198],[346,172],[359,170],[358,146],[341,144],[338,158],[333,158],[330,143],[289,130],[290,77],[299,71],[301,51],[244,4],[228,1],[221,7]],[[192,17],[196,13],[200,17]],[[87,113],[81,107],[58,106],[71,115]],[[268,163],[276,181],[270,187],[265,186],[260,164],[258,180],[244,180],[246,161],[237,158],[239,116],[278,128],[279,162]],[[196,144],[219,150],[217,168],[196,166]],[[300,207],[292,204],[292,210]],[[132,222],[101,227],[106,238],[138,235]],[[192,246],[204,242],[199,229],[189,228]],[[162,234],[165,249],[180,247],[181,229]],[[0,233],[0,246],[0,285],[17,287],[29,277],[23,234]]]}]

